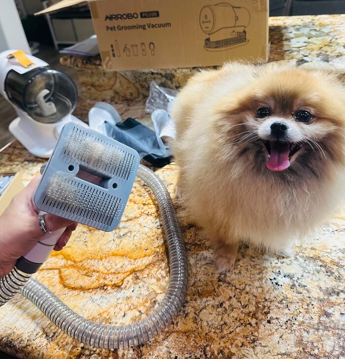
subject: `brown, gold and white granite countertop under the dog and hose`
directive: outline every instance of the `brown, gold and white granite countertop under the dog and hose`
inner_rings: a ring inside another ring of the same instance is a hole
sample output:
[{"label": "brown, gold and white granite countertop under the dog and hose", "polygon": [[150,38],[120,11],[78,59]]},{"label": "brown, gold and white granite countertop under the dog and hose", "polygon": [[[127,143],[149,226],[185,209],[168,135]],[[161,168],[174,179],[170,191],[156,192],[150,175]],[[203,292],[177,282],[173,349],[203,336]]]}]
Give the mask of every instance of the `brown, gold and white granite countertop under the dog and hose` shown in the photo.
[{"label": "brown, gold and white granite countertop under the dog and hose", "polygon": [[[271,59],[303,58],[309,61],[305,66],[317,62],[344,72],[344,20],[343,15],[271,19]],[[22,170],[26,180],[41,163],[17,142],[0,153],[1,170]],[[172,196],[177,172],[174,164],[157,171]],[[226,275],[212,273],[212,250],[200,229],[183,218],[181,225],[188,294],[181,313],[156,338],[125,350],[90,348],[17,295],[0,309],[0,350],[30,359],[345,358],[345,208],[309,241],[297,243],[290,258],[243,246],[235,270]],[[79,225],[68,246],[35,278],[90,320],[124,324],[150,313],[169,281],[152,193],[137,180],[117,230]]]}]

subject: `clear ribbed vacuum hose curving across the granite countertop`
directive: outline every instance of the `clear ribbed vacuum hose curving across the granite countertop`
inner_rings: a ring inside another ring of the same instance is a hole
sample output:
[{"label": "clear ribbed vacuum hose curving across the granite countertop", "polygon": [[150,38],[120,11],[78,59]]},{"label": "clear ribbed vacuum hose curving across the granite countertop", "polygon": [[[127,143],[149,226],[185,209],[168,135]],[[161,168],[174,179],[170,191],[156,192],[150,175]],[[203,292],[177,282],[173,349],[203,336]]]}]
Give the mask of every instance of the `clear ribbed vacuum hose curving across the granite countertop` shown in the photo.
[{"label": "clear ribbed vacuum hose curving across the granite countertop", "polygon": [[169,287],[157,309],[146,318],[128,325],[94,323],[73,312],[47,287],[17,268],[0,279],[0,306],[21,291],[61,330],[92,347],[118,349],[136,346],[163,331],[179,312],[187,292],[187,253],[166,186],[143,165],[139,167],[138,177],[152,189],[157,199],[169,253]]}]

